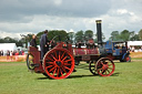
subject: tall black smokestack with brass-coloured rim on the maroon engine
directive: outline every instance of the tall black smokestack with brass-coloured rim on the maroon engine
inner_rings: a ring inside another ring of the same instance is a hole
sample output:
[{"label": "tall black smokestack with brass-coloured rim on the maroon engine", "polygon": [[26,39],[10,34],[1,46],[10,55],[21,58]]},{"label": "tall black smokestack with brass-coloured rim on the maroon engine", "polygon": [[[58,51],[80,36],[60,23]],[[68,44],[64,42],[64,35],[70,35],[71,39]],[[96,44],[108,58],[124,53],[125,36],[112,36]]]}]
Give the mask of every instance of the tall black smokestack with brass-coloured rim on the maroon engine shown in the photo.
[{"label": "tall black smokestack with brass-coloured rim on the maroon engine", "polygon": [[97,20],[97,35],[98,35],[98,44],[102,46],[102,30],[101,30],[101,20]]}]

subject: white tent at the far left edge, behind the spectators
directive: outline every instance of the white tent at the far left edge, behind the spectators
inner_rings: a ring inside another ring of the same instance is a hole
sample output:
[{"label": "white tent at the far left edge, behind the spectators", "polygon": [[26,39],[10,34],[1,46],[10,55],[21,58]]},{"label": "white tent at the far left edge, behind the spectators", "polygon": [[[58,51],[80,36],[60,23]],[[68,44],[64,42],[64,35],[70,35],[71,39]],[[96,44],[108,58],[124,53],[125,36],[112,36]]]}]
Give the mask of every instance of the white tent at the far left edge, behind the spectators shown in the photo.
[{"label": "white tent at the far left edge, behind the spectators", "polygon": [[0,51],[3,50],[6,51],[14,51],[17,50],[16,43],[0,43]]}]

